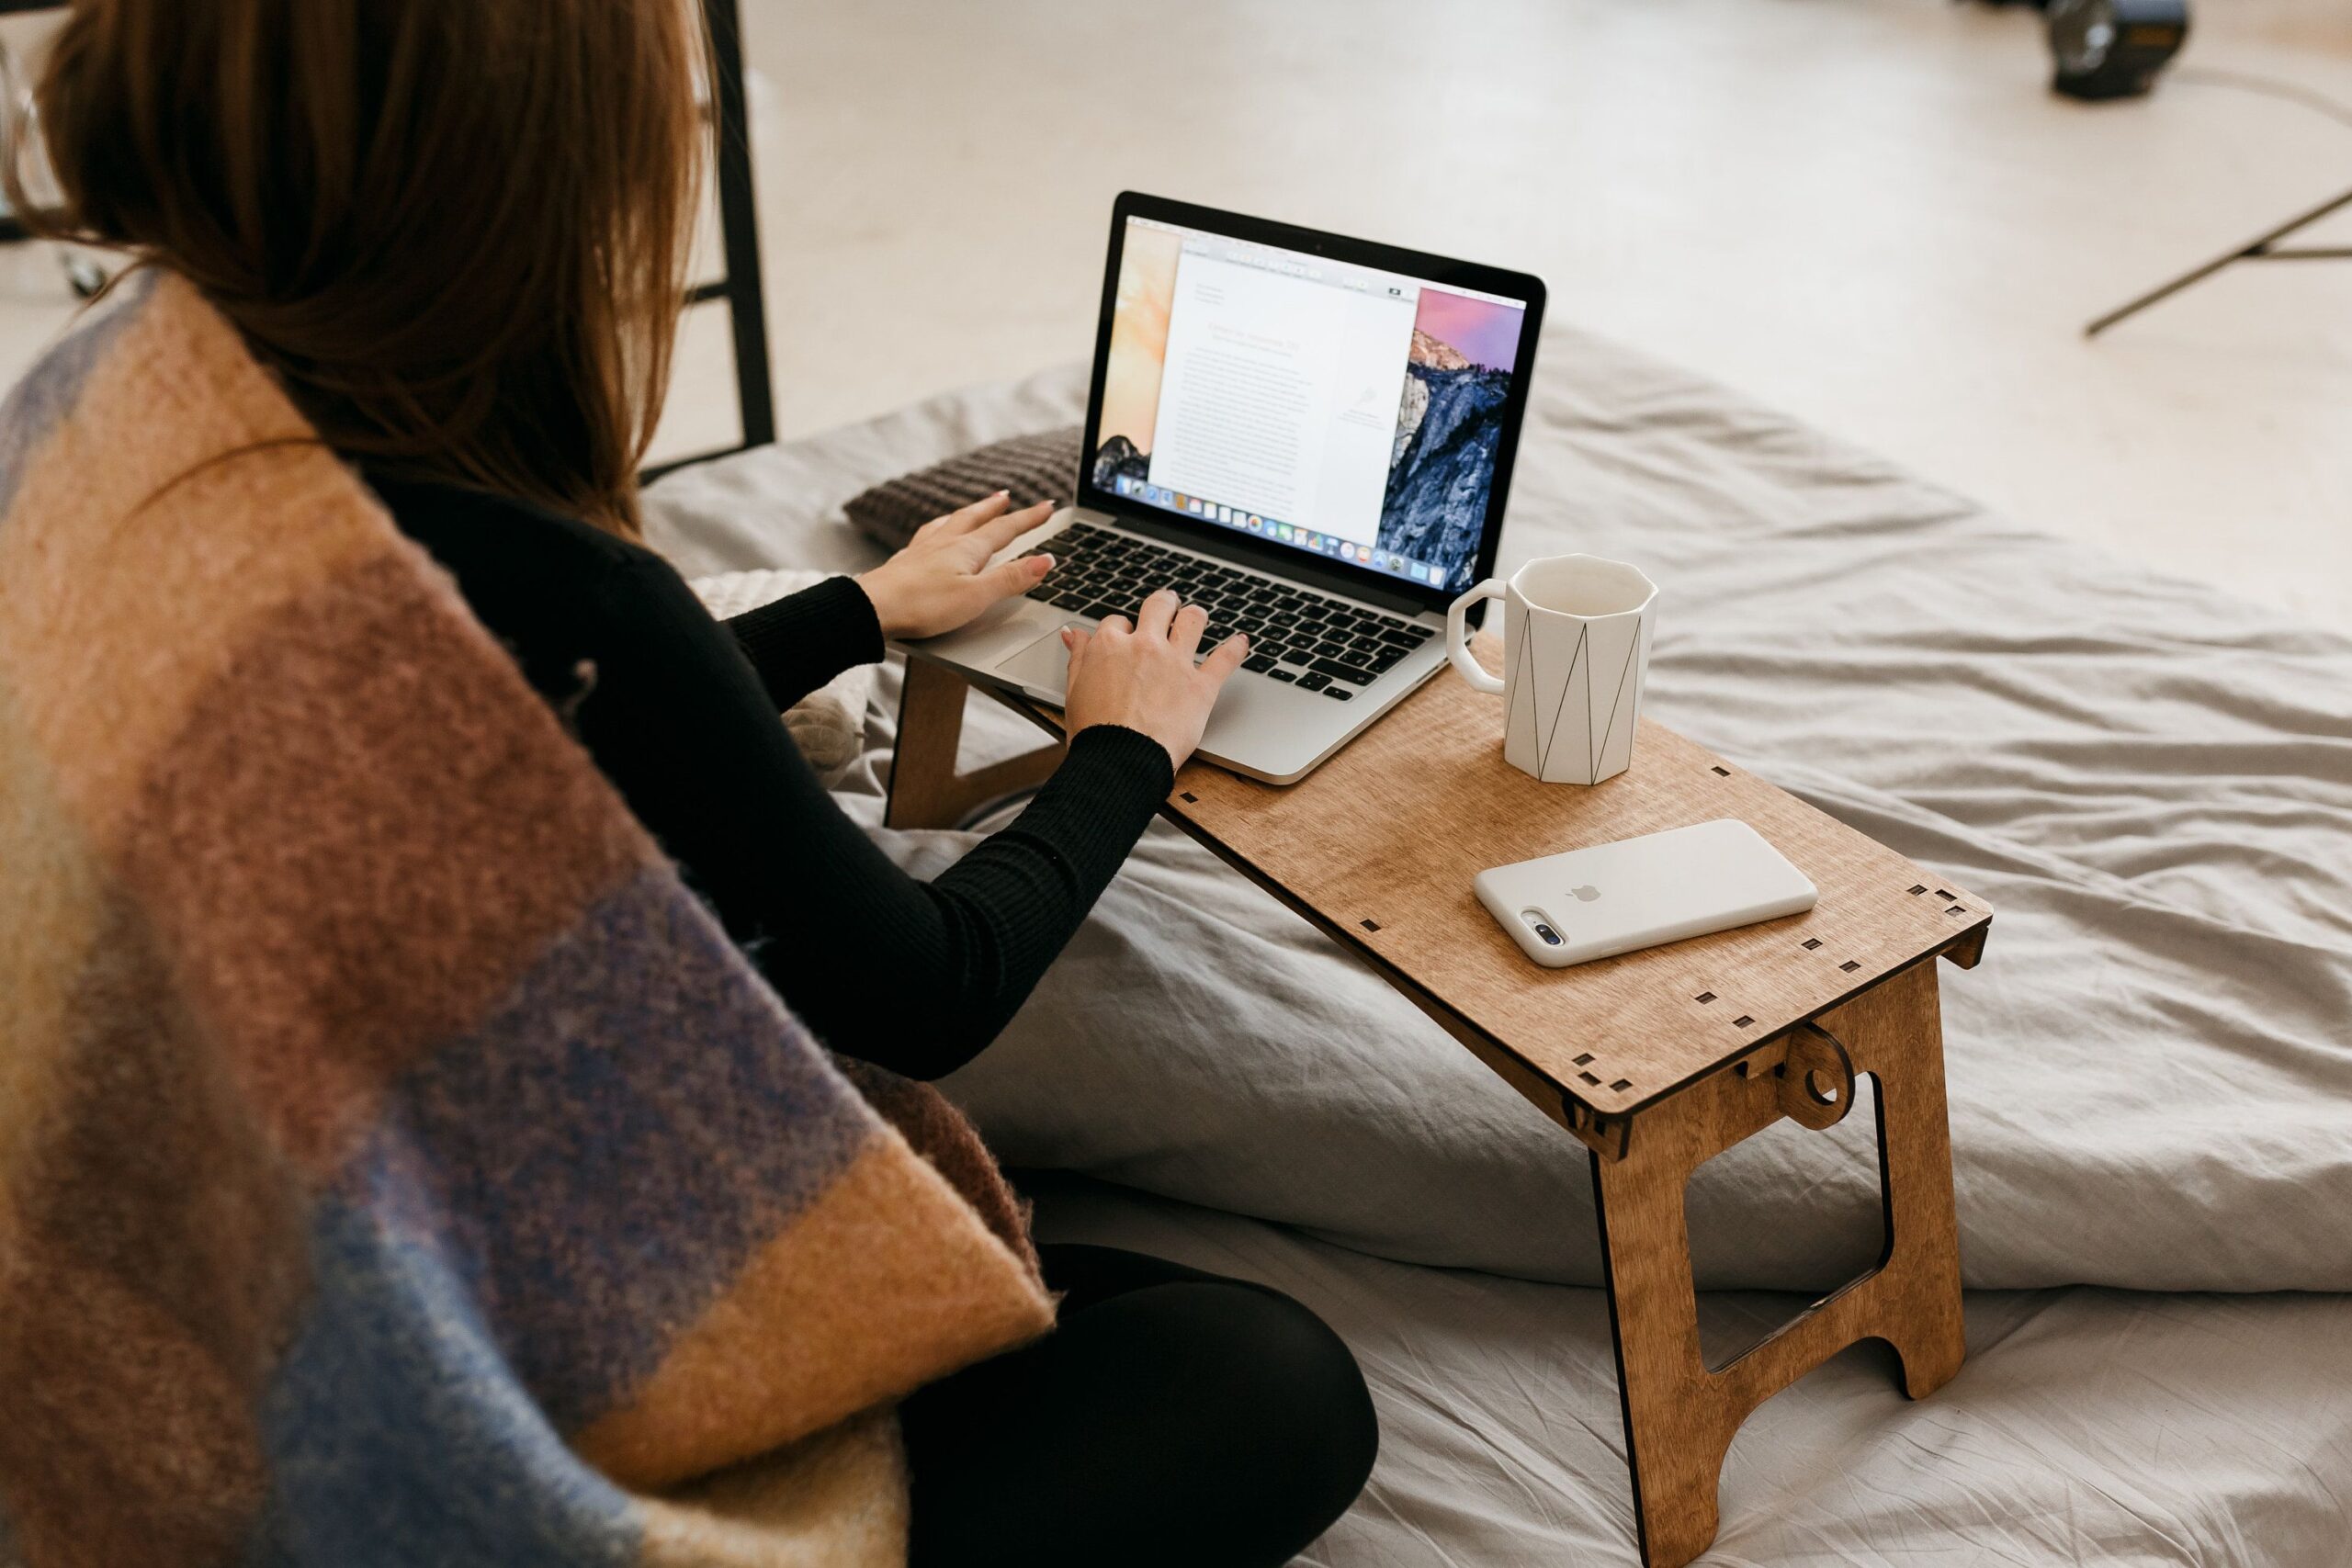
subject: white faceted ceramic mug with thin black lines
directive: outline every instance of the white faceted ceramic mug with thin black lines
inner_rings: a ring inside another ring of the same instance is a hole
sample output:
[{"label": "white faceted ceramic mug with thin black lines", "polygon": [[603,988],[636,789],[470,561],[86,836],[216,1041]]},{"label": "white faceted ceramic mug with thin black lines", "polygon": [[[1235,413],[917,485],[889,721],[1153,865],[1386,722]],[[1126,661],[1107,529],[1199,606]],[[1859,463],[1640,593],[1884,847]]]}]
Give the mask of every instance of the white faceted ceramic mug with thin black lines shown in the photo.
[{"label": "white faceted ceramic mug with thin black lines", "polygon": [[[1470,607],[1503,599],[1503,679],[1470,656]],[[1632,764],[1658,585],[1625,562],[1545,555],[1446,609],[1446,654],[1503,693],[1503,762],[1543,783],[1599,783]]]}]

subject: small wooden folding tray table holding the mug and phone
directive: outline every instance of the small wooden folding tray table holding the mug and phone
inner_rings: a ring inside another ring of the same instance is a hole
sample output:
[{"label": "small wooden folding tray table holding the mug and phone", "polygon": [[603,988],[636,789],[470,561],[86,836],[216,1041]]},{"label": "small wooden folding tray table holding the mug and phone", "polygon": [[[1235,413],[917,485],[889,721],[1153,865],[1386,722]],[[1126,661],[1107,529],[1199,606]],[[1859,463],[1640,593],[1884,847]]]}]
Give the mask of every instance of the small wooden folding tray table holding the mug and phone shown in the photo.
[{"label": "small wooden folding tray table holding the mug and phone", "polygon": [[[1491,663],[1491,649],[1486,649]],[[908,658],[889,823],[950,825],[1040,780],[1061,748],[955,771],[967,682]],[[1058,715],[993,691],[1058,733]],[[1494,698],[1439,672],[1289,788],[1209,764],[1164,816],[1369,961],[1585,1143],[1616,1335],[1642,1561],[1679,1568],[1717,1528],[1748,1413],[1856,1340],[1886,1340],[1926,1396],[1964,1356],[1940,954],[1973,969],[1992,912],[1950,877],[1642,722],[1632,769],[1595,788],[1503,762]],[[1538,969],[1470,891],[1489,865],[1740,818],[1820,903],[1573,969]],[[1867,1274],[1710,1368],[1682,1194],[1691,1171],[1790,1117],[1828,1128],[1877,1086],[1886,1248]]]}]

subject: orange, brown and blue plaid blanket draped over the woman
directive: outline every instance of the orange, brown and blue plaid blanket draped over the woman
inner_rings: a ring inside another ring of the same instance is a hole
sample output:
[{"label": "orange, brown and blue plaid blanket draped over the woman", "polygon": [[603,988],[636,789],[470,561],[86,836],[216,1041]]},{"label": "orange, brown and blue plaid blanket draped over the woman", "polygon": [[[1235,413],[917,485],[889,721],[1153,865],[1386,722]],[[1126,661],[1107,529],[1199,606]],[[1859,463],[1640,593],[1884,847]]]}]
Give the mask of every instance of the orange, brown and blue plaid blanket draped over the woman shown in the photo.
[{"label": "orange, brown and blue plaid blanket draped over the woman", "polygon": [[14,390],[0,1561],[901,1561],[1051,1305],[854,1077],[193,287]]}]

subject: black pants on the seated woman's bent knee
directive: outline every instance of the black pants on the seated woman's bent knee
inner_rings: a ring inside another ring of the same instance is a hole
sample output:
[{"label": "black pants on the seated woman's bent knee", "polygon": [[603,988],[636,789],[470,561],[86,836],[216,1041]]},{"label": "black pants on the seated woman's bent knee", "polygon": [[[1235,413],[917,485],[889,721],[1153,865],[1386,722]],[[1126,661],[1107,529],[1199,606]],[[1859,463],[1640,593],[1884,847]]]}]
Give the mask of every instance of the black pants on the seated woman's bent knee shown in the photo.
[{"label": "black pants on the seated woman's bent knee", "polygon": [[1381,1432],[1319,1316],[1108,1246],[1042,1258],[1061,1326],[901,1408],[910,1568],[1275,1568],[1355,1502]]}]

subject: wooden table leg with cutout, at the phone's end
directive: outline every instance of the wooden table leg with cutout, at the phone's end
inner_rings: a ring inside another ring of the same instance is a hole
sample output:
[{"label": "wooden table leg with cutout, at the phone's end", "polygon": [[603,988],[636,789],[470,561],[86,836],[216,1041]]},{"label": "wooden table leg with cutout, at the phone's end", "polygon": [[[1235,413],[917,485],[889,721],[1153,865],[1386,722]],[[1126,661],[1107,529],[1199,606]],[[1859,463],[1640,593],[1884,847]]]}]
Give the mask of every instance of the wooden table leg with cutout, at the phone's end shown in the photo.
[{"label": "wooden table leg with cutout, at the phone's end", "polygon": [[[1623,1154],[1592,1154],[1616,1333],[1635,1521],[1649,1568],[1682,1568],[1717,1528],[1717,1481],[1748,1415],[1846,1345],[1882,1338],[1903,1389],[1943,1387],[1966,1354],[1933,961],[1830,1009],[1818,1030],[1766,1044],[1635,1114]],[[1872,1074],[1886,1253],[1736,1361],[1698,1347],[1682,1194],[1703,1161],[1783,1114],[1835,1126]]]}]

